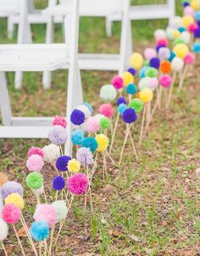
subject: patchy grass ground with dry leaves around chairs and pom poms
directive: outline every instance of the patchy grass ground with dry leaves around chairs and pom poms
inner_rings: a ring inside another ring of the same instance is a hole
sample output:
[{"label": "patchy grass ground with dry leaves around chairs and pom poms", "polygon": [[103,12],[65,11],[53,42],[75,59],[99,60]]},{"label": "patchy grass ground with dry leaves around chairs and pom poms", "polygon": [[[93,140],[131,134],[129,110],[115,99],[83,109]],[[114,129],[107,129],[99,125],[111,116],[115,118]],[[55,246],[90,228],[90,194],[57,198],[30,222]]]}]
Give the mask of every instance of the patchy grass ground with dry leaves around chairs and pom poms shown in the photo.
[{"label": "patchy grass ground with dry leaves around chairs and pom poms", "polygon": [[[153,1],[137,1],[137,3]],[[158,2],[158,1],[157,1]],[[159,3],[162,3],[160,1]],[[180,1],[177,12],[181,13]],[[41,6],[43,1],[37,1]],[[103,19],[81,19],[81,52],[99,51],[116,53],[119,47],[119,23],[114,24],[113,35],[107,38]],[[166,20],[136,21],[133,25],[134,47],[142,52],[153,46],[153,31],[164,28]],[[89,29],[88,29],[89,28]],[[44,26],[33,27],[34,42],[44,42]],[[60,26],[56,26],[56,42],[61,40]],[[6,22],[1,19],[0,42],[14,42],[6,37]],[[16,31],[15,31],[16,36]],[[87,101],[97,108],[99,87],[110,81],[113,72],[81,72]],[[65,114],[67,72],[53,73],[53,86],[43,91],[42,74],[25,74],[24,87],[14,90],[14,74],[8,74],[8,89],[15,115],[37,116]],[[140,159],[137,163],[126,147],[123,164],[109,166],[108,177],[102,181],[97,174],[92,184],[95,215],[84,211],[82,198],[75,199],[62,240],[54,255],[198,255],[199,245],[199,166],[200,97],[198,72],[193,69],[181,94],[175,92],[171,109],[156,114],[149,136],[142,148],[136,145]],[[120,132],[121,131],[121,132]],[[123,125],[114,145],[114,158],[124,138]],[[135,137],[138,141],[139,125]],[[32,145],[44,146],[47,140],[0,140],[0,170],[9,179],[20,181],[25,187],[26,153]],[[130,145],[129,145],[130,146]],[[47,193],[53,177],[49,166],[45,167]],[[27,221],[31,224],[36,200],[25,187]],[[11,232],[12,233],[12,232]],[[13,234],[6,242],[10,255],[19,255]],[[27,255],[31,255],[27,250]]]}]

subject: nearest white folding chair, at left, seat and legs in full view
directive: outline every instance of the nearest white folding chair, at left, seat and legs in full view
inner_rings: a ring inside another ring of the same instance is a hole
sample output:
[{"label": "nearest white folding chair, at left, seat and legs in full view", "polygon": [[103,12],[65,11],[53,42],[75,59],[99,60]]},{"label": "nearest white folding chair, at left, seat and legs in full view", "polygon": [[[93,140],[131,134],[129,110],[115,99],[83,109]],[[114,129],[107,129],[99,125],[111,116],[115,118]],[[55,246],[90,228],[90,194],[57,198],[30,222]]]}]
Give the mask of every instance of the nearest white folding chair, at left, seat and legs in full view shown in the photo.
[{"label": "nearest white folding chair, at left, seat and legs in full view", "polygon": [[[26,0],[20,0],[26,1]],[[69,13],[66,13],[65,43],[57,44],[5,44],[0,45],[0,109],[3,125],[0,137],[41,138],[47,137],[47,131],[53,118],[25,118],[12,115],[5,72],[7,71],[53,71],[69,69],[67,111],[82,103],[81,75],[78,68],[78,15],[79,0],[73,0]],[[72,127],[69,122],[70,138]],[[71,143],[68,140],[71,153]]]}]

